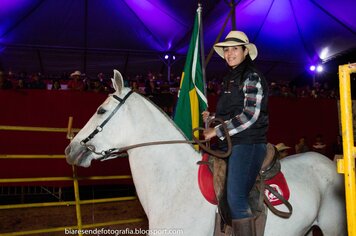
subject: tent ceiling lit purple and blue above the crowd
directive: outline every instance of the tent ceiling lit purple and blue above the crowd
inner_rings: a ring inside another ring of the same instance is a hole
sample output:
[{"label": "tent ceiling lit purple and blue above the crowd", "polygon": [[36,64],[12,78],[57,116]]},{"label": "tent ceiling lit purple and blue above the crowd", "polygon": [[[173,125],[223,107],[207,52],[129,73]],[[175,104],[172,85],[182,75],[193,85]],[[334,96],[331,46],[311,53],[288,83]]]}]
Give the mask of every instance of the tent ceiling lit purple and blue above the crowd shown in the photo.
[{"label": "tent ceiling lit purple and blue above the crowd", "polygon": [[[230,0],[203,0],[206,54],[226,20]],[[293,79],[310,63],[356,48],[354,0],[240,0],[236,28],[257,45],[271,79]],[[191,36],[197,1],[0,0],[0,67],[28,72],[128,74],[160,71],[158,55],[180,54]],[[223,37],[232,29],[229,20]],[[354,57],[355,58],[355,57]],[[224,70],[215,55],[211,73]],[[208,74],[209,76],[209,74]]]}]

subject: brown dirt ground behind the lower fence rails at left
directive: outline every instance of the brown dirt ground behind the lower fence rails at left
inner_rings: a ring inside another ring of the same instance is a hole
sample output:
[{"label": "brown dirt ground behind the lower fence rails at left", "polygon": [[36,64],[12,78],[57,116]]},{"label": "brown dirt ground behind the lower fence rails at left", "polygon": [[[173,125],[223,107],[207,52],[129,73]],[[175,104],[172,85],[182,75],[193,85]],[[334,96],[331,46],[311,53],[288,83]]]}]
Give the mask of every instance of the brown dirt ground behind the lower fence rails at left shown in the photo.
[{"label": "brown dirt ground behind the lower fence rails at left", "polygon": [[[106,232],[106,233],[83,234],[83,235],[96,235],[96,236],[115,235],[114,232],[118,232],[115,230],[122,230],[121,233],[118,234],[120,236],[133,235],[132,232],[144,233],[144,230],[147,230],[148,228],[148,221],[146,215],[138,200],[81,205],[81,214],[82,214],[83,225],[125,220],[130,218],[142,219],[142,221],[136,223],[126,223],[126,224],[119,224],[113,226],[95,227],[92,229],[105,230],[102,232]],[[17,232],[17,231],[29,231],[29,230],[39,230],[44,228],[75,226],[76,224],[77,224],[77,220],[76,220],[75,206],[0,210],[0,235],[10,235],[10,232]],[[67,232],[61,230],[53,233],[36,233],[32,235],[38,235],[38,236],[76,235],[73,234],[72,232],[69,230]],[[145,235],[145,234],[141,233],[141,234],[134,234],[134,235]]]}]

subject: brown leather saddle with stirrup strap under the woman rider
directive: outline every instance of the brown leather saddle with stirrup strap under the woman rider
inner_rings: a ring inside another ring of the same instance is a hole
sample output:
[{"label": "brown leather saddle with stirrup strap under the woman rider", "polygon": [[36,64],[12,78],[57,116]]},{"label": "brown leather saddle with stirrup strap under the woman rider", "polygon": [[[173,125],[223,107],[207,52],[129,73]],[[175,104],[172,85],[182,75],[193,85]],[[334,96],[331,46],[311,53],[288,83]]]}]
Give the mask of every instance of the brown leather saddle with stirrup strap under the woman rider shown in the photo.
[{"label": "brown leather saddle with stirrup strap under the woman rider", "polygon": [[[228,235],[228,232],[231,230],[231,217],[229,212],[229,207],[227,204],[226,198],[226,159],[216,158],[214,156],[209,156],[205,154],[203,156],[203,160],[198,162],[201,166],[199,167],[199,172],[203,170],[203,168],[209,168],[210,173],[213,175],[211,178],[213,181],[209,183],[206,182],[210,187],[210,192],[215,193],[212,197],[212,194],[204,197],[212,204],[217,204],[219,213],[216,216],[215,222],[215,232],[214,235]],[[205,167],[204,167],[205,166]],[[280,173],[281,165],[279,162],[279,153],[277,149],[270,143],[267,144],[267,154],[265,160],[262,164],[260,174],[256,179],[255,185],[253,186],[250,195],[249,195],[249,204],[252,210],[253,215],[255,216],[255,224],[256,224],[256,235],[262,236],[264,234],[265,223],[267,219],[267,207],[276,215],[279,215],[283,218],[288,218],[292,214],[292,206],[290,203],[283,198],[276,190],[269,187],[265,184],[266,180],[272,179],[278,173]],[[199,173],[201,176],[201,173]],[[200,177],[199,177],[200,178]],[[201,184],[203,181],[199,179],[199,183]],[[202,186],[199,185],[201,188]],[[213,188],[213,190],[212,190]],[[277,210],[267,199],[264,194],[265,189],[268,189],[270,193],[276,196],[278,199],[283,202],[289,212],[282,212]]]}]

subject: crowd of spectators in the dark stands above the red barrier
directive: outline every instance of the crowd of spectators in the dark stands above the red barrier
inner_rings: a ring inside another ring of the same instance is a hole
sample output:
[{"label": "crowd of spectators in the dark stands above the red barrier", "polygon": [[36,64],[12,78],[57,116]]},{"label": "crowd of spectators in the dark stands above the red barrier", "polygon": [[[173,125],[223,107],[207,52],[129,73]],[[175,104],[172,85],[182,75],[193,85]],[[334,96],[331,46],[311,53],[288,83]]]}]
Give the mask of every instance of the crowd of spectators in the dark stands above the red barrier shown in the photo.
[{"label": "crowd of spectators in the dark stands above the red barrier", "polygon": [[[167,77],[160,73],[147,73],[147,75],[136,75],[126,78],[126,86],[130,86],[134,91],[148,96],[167,93],[176,94],[179,89],[180,76]],[[5,73],[0,70],[0,89],[49,89],[49,90],[77,90],[93,92],[112,92],[109,76],[99,73],[95,77],[88,77],[80,71],[59,76],[44,76],[40,73],[26,74]],[[209,95],[219,95],[221,91],[221,78],[213,77],[207,79],[207,93]],[[269,96],[287,98],[335,98],[338,99],[338,89],[331,88],[327,82],[318,83],[314,86],[295,86],[288,82],[270,82]]]}]

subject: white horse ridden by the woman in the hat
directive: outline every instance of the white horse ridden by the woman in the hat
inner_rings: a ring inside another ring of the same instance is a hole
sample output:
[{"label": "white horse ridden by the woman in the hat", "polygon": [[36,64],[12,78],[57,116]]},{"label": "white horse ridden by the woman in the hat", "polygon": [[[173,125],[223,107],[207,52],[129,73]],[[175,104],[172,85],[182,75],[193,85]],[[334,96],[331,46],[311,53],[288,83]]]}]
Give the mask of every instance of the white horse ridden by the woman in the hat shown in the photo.
[{"label": "white horse ridden by the woman in the hat", "polygon": [[[89,167],[92,160],[109,157],[116,148],[186,140],[157,106],[123,86],[118,71],[114,71],[113,86],[116,92],[66,148],[69,164]],[[196,163],[201,153],[184,143],[137,147],[127,152],[150,230],[160,230],[162,235],[172,235],[169,230],[181,230],[179,235],[183,232],[187,236],[213,235],[216,206],[204,199],[197,181]],[[313,225],[318,225],[325,236],[346,235],[343,180],[335,164],[309,152],[285,158],[281,166],[289,184],[293,214],[284,219],[268,211],[265,235],[305,235]]]}]

